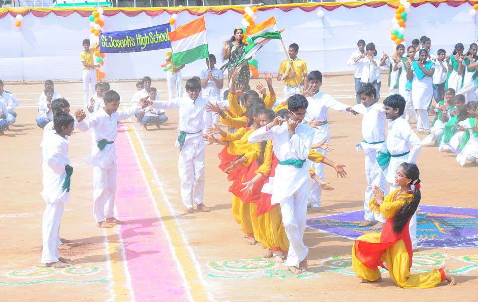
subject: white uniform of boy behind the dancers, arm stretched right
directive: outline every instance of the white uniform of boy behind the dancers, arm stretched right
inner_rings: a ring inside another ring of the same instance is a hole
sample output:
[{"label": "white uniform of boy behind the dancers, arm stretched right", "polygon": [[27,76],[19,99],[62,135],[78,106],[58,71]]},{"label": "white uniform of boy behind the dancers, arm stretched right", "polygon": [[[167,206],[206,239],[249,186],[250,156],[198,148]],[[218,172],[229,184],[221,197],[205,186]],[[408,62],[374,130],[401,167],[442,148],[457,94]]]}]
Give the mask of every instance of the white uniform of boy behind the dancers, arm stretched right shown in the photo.
[{"label": "white uniform of boy behind the dancers, arm stretched right", "polygon": [[[306,121],[311,121],[315,118],[316,121],[327,121],[327,111],[329,109],[334,109],[337,111],[347,112],[347,108],[350,108],[349,105],[340,103],[332,96],[325,94],[323,92],[317,92],[313,97],[307,97],[309,103],[307,107],[307,114],[305,115]],[[324,140],[327,142],[330,141],[329,133],[329,124],[322,126],[317,126],[315,129],[315,134],[313,137],[313,143],[320,143]],[[327,150],[318,148],[315,149],[317,152],[327,156]],[[324,180],[324,164],[322,163],[313,163],[312,167],[315,171],[315,174]],[[320,207],[322,198],[322,188],[314,181],[312,181],[309,200],[312,206]]]}]

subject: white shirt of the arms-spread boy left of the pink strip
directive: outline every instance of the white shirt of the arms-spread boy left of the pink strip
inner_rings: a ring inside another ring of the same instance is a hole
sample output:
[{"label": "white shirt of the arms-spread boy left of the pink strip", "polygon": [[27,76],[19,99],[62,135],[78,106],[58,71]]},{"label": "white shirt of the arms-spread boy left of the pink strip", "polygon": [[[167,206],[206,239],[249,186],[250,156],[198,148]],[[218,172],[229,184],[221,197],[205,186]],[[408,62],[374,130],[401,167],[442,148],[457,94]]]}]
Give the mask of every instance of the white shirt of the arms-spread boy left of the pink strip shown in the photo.
[{"label": "white shirt of the arms-spread boy left of the pink strip", "polygon": [[[124,111],[116,111],[111,116],[104,109],[100,109],[78,123],[78,129],[87,131],[93,128],[95,131],[95,141],[102,139],[114,141],[118,133],[118,121],[127,119],[137,113],[141,106],[133,105]],[[92,157],[88,160],[92,166],[103,169],[111,168],[116,161],[116,147],[114,143],[107,144],[103,150],[100,150],[95,144],[93,146]]]}]

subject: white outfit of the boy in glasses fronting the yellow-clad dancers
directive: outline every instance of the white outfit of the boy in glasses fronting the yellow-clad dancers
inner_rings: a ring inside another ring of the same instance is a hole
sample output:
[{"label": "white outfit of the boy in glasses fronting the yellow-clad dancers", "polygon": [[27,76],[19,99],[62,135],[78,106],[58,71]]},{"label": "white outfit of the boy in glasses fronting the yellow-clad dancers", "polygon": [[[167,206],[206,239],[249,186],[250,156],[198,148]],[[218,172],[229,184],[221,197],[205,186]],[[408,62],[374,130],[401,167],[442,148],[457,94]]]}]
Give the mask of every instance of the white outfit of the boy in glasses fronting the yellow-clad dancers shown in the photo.
[{"label": "white outfit of the boy in glasses fronting the yellow-clad dancers", "polygon": [[[314,137],[314,129],[303,124],[297,125],[290,135],[287,123],[267,130],[262,127],[249,136],[249,142],[272,139],[272,149],[279,161],[306,160]],[[278,165],[272,184],[271,204],[280,203],[282,223],[289,239],[289,253],[286,266],[298,267],[308,253],[303,237],[307,220],[307,197],[309,195],[309,165],[302,168]]]}]

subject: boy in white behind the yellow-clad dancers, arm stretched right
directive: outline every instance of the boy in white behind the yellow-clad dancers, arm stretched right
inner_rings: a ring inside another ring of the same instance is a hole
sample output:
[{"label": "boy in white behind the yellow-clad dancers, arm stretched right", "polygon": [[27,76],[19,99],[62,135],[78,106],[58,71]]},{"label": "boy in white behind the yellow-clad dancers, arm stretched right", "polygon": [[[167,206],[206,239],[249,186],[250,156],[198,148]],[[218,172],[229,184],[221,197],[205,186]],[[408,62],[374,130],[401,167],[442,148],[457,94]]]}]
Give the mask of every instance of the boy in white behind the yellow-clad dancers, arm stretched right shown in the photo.
[{"label": "boy in white behind the yellow-clad dancers, arm stretched right", "polygon": [[[322,73],[318,70],[311,71],[307,76],[308,89],[307,91],[312,95],[307,97],[308,108],[305,115],[305,121],[315,128],[313,137],[313,144],[330,141],[329,124],[327,121],[327,111],[334,109],[342,112],[352,112],[352,107],[343,104],[332,98],[330,95],[320,91],[322,86]],[[327,157],[327,150],[322,148],[315,149],[317,152]],[[324,164],[313,163],[315,174],[324,181]],[[314,181],[312,181],[310,189],[310,204],[313,211],[320,210],[322,198],[322,188]]]}]

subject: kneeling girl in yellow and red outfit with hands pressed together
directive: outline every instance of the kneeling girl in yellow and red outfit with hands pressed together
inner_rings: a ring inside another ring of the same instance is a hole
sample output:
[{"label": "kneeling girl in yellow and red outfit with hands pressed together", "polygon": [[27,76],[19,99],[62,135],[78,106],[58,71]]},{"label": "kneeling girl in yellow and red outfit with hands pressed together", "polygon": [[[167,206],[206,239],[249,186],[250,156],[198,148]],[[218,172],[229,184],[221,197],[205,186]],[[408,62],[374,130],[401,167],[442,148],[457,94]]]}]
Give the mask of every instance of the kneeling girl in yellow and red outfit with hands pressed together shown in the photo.
[{"label": "kneeling girl in yellow and red outfit with hands pressed together", "polygon": [[445,280],[455,285],[446,267],[410,274],[413,251],[409,223],[420,203],[419,177],[420,171],[415,164],[403,163],[395,173],[395,185],[400,188],[384,196],[377,186],[374,187],[370,209],[382,214],[386,221],[381,233],[362,235],[352,247],[352,266],[362,282],[379,280],[378,266],[381,266],[388,270],[393,282],[403,288],[430,288]]}]

